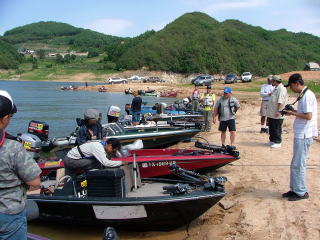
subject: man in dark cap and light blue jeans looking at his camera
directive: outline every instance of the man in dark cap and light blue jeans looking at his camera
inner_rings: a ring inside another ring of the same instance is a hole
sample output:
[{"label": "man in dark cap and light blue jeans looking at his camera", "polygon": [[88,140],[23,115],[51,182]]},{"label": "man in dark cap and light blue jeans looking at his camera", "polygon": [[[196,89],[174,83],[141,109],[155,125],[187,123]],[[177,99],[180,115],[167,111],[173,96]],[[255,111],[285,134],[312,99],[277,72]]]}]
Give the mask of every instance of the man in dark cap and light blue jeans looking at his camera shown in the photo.
[{"label": "man in dark cap and light blue jeans looking at his camera", "polygon": [[[314,93],[304,85],[302,76],[295,73],[289,77],[285,87],[298,93],[298,108],[295,111],[284,110],[286,115],[295,116],[293,123],[293,157],[290,165],[290,191],[282,194],[289,201],[309,198],[306,183],[306,162],[313,137],[318,136],[317,99]],[[293,105],[293,104],[292,104]]]}]

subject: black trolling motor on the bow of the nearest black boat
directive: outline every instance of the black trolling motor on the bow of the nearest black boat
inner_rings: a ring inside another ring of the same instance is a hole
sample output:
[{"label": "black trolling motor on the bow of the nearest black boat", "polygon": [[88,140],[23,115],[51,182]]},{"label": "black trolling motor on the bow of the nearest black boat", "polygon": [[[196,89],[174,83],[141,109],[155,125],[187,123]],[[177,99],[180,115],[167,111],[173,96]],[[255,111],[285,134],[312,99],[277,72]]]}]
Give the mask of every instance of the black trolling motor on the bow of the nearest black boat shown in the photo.
[{"label": "black trolling motor on the bow of the nearest black boat", "polygon": [[[219,191],[224,192],[224,183],[227,181],[226,177],[214,177],[210,178],[199,173],[189,171],[179,167],[176,164],[169,166],[169,169],[177,176],[188,181],[190,184],[203,186],[206,191]],[[171,195],[185,194],[190,189],[189,184],[178,183],[174,186],[164,186],[163,190],[166,190]]]}]

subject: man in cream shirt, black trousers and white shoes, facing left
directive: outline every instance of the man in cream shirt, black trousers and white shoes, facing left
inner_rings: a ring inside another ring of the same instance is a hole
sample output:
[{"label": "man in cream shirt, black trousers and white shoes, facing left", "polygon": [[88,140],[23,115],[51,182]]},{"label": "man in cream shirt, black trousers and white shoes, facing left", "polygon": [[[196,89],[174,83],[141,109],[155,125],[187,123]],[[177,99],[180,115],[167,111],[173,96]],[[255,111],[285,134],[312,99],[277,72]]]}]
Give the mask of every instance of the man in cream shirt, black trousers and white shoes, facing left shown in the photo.
[{"label": "man in cream shirt, black trousers and white shoes, facing left", "polygon": [[287,89],[283,86],[281,77],[274,75],[272,77],[272,86],[274,91],[268,102],[267,117],[269,118],[269,145],[272,148],[281,147],[282,123],[284,116],[280,111],[286,105],[288,99]]}]

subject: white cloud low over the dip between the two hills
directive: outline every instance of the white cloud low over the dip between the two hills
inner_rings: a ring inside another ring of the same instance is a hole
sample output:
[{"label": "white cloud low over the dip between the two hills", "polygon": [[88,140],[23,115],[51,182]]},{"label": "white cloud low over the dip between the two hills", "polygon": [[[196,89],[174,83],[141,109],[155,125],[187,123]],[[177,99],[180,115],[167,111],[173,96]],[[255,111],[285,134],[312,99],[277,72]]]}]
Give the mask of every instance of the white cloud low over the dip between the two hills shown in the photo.
[{"label": "white cloud low over the dip between the two hills", "polygon": [[95,20],[85,28],[110,35],[125,35],[127,29],[132,25],[133,23],[126,19],[104,18]]}]

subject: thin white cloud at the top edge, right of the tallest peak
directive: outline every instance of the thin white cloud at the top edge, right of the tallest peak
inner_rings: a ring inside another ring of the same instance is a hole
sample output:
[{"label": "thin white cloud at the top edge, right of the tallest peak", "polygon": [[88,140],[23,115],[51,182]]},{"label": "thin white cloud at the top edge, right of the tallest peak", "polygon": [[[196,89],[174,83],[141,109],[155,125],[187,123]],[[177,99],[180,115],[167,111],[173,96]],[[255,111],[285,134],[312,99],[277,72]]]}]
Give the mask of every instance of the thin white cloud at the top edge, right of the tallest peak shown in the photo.
[{"label": "thin white cloud at the top edge, right of the tallest peak", "polygon": [[213,4],[208,4],[202,11],[212,14],[217,11],[230,9],[245,9],[257,8],[268,5],[268,0],[236,0],[236,1],[219,1]]}]

